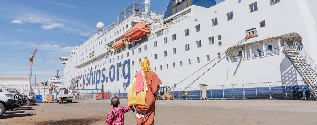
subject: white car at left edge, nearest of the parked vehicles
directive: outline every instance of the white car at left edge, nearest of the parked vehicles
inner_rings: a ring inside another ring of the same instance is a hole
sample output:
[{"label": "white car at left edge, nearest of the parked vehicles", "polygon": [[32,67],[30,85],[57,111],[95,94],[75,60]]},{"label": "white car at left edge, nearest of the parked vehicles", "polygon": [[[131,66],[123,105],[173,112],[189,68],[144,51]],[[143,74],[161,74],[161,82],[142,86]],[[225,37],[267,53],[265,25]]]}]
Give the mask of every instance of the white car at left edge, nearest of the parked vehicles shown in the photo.
[{"label": "white car at left edge, nearest of the parked vehicles", "polygon": [[0,117],[7,110],[18,109],[23,105],[23,96],[14,94],[0,86]]}]

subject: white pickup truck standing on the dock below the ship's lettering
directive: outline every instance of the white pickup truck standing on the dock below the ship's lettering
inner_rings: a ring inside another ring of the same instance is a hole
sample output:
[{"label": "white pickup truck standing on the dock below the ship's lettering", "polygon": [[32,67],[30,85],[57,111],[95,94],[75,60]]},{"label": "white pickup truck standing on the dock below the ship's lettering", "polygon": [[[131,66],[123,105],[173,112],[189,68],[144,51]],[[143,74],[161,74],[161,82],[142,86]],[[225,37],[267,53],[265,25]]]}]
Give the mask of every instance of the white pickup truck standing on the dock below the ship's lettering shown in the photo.
[{"label": "white pickup truck standing on the dock below the ship's lettering", "polygon": [[63,101],[72,103],[73,102],[73,92],[67,88],[61,88],[56,95],[56,103],[62,103]]}]

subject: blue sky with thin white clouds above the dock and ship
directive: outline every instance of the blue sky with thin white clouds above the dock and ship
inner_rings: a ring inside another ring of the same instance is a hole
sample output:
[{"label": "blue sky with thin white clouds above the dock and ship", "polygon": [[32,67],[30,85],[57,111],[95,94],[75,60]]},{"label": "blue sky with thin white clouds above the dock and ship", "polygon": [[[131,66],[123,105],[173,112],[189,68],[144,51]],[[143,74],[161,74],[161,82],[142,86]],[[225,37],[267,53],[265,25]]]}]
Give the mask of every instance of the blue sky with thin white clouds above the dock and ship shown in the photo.
[{"label": "blue sky with thin white clouds above the dock and ship", "polygon": [[[29,76],[44,82],[61,70],[61,55],[81,45],[96,33],[96,24],[105,26],[134,0],[0,0],[0,76]],[[143,3],[144,0],[135,0]],[[169,0],[151,0],[150,10],[164,12]]]}]

